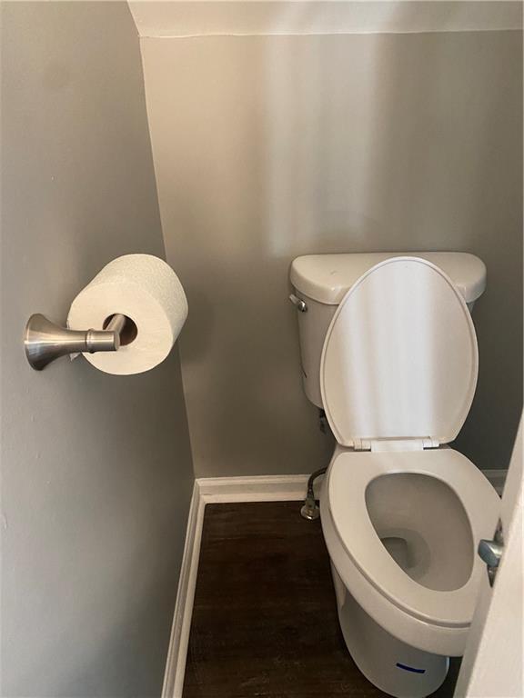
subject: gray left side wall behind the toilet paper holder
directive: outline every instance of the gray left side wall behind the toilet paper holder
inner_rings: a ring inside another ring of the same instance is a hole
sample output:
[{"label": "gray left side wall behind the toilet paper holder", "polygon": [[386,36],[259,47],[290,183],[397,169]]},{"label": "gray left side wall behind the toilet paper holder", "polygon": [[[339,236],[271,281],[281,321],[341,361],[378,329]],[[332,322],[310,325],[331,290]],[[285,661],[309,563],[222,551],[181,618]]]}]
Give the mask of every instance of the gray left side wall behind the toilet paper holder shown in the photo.
[{"label": "gray left side wall behind the toilet paper holder", "polygon": [[22,334],[119,254],[164,255],[126,4],[3,4],[2,694],[161,691],[193,474],[177,352],[147,374]]}]

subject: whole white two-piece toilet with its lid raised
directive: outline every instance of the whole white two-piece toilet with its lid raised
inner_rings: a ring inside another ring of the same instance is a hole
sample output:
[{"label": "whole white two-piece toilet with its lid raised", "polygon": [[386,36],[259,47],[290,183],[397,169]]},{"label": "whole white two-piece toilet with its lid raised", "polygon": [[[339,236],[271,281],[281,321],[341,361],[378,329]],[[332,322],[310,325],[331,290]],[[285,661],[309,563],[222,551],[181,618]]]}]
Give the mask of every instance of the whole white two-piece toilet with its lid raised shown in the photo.
[{"label": "whole white two-piece toilet with its lid raised", "polygon": [[369,681],[435,691],[464,652],[499,496],[449,448],[469,413],[478,349],[472,254],[298,257],[307,397],[337,439],[320,496],[338,617]]}]

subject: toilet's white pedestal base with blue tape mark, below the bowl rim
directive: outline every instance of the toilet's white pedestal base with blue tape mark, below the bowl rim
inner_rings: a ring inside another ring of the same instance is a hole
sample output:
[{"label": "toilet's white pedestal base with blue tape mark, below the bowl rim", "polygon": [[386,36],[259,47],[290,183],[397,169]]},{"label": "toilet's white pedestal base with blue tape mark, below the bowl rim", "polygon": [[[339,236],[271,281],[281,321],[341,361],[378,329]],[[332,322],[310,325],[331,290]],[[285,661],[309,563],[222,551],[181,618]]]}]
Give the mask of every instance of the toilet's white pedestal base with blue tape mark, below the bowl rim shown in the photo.
[{"label": "toilet's white pedestal base with blue tape mark, below the bowl rim", "polygon": [[446,678],[448,657],[401,642],[376,623],[348,593],[331,564],[338,620],[349,653],[368,681],[395,698],[425,698]]}]

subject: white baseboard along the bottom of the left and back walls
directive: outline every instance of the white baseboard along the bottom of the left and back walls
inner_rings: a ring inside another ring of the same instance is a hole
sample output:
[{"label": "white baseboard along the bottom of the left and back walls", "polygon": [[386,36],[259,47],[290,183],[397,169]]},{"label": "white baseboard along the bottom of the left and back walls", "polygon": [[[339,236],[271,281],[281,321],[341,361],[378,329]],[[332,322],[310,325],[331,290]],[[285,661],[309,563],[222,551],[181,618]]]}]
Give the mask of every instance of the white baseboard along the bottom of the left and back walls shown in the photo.
[{"label": "white baseboard along the bottom of the left and back walls", "polygon": [[[508,471],[484,470],[482,472],[501,494]],[[300,501],[306,496],[308,477],[309,475],[258,475],[196,479],[187,517],[186,544],[176,594],[162,698],[182,698],[206,504]],[[321,478],[317,478],[316,484],[320,482]],[[315,489],[317,490],[317,487]]]}]

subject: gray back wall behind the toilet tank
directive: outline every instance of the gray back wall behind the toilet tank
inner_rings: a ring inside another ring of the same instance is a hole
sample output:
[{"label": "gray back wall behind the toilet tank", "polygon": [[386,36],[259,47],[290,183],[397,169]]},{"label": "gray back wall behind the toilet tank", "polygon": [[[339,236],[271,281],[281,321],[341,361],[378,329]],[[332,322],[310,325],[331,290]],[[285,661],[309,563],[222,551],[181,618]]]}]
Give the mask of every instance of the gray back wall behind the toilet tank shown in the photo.
[{"label": "gray back wall behind the toilet tank", "polygon": [[331,444],[300,384],[298,254],[464,250],[480,376],[459,448],[508,464],[521,404],[518,31],[141,40],[198,475],[307,473]]}]

